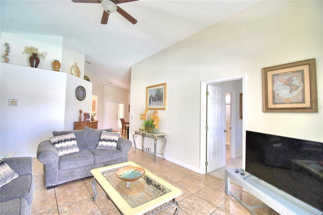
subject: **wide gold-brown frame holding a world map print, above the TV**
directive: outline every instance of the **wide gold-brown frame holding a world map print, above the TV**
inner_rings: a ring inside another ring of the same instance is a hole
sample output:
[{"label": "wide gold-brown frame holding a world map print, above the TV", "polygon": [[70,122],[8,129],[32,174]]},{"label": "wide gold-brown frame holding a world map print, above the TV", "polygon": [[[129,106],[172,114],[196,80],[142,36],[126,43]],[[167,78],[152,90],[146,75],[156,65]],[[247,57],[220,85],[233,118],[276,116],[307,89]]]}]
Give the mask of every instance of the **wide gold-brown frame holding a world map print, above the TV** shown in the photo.
[{"label": "wide gold-brown frame holding a world map print, above the TV", "polygon": [[316,112],[315,59],[262,69],[263,112]]}]

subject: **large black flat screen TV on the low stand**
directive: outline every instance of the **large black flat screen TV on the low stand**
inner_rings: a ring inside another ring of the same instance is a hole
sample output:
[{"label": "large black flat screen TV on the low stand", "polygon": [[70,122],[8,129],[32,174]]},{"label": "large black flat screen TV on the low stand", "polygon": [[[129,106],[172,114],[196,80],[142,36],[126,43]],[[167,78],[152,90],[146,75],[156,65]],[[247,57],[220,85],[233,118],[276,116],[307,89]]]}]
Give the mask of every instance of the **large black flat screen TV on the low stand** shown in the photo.
[{"label": "large black flat screen TV on the low stand", "polygon": [[323,211],[323,143],[246,131],[245,170]]}]

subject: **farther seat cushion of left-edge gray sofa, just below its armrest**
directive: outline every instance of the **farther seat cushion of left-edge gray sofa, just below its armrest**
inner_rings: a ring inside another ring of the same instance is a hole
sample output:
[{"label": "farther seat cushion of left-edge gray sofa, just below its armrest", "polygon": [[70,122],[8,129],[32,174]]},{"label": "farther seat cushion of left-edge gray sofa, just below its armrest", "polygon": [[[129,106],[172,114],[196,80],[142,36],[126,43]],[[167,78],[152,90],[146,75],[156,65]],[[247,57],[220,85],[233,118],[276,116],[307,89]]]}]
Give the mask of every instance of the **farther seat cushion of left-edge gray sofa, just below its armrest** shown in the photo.
[{"label": "farther seat cushion of left-edge gray sofa, just below its armrest", "polygon": [[25,198],[28,204],[31,204],[33,189],[34,184],[31,174],[19,176],[1,187],[0,201],[3,202],[15,198]]}]

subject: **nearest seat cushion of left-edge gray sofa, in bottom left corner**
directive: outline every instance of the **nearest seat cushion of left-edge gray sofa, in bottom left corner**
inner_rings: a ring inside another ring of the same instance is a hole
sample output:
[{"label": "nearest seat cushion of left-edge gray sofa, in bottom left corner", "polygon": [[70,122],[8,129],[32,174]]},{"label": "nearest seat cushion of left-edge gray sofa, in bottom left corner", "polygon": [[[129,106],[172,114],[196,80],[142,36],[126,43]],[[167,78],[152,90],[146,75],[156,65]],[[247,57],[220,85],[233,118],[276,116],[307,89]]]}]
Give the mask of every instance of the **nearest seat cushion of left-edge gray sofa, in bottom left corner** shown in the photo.
[{"label": "nearest seat cushion of left-edge gray sofa, in bottom left corner", "polygon": [[13,200],[1,202],[0,208],[1,214],[30,214],[28,202],[24,198],[15,198]]}]

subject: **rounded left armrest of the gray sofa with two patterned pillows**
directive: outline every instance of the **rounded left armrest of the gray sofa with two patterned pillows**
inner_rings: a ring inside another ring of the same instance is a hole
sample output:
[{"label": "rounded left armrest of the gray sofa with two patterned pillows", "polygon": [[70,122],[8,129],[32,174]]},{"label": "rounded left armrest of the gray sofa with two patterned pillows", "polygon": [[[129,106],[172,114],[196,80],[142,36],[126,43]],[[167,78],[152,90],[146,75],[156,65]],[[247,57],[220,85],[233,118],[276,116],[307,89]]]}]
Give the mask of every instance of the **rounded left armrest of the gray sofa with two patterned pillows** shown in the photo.
[{"label": "rounded left armrest of the gray sofa with two patterned pillows", "polygon": [[60,156],[57,148],[49,140],[44,140],[38,145],[37,159],[43,164],[58,164]]}]

